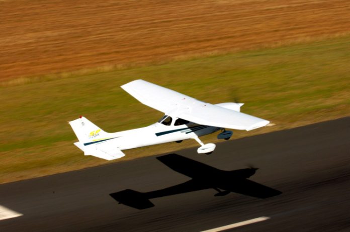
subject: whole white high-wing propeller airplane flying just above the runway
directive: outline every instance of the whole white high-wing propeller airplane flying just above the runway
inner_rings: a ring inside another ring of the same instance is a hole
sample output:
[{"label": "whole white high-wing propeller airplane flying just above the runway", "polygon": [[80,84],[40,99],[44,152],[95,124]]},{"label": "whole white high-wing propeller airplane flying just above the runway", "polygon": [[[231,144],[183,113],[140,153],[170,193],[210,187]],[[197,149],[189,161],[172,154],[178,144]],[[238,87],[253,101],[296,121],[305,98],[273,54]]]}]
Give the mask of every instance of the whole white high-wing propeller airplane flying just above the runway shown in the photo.
[{"label": "whole white high-wing propeller airplane flying just above the runway", "polygon": [[168,142],[196,140],[199,154],[210,154],[216,145],[204,144],[198,137],[217,131],[218,139],[228,140],[232,131],[250,131],[270,122],[241,113],[243,103],[210,104],[144,80],[134,80],[121,86],[141,103],[165,113],[157,123],[134,130],[107,133],[88,119],[80,117],[69,122],[79,142],[74,143],[84,155],[106,160],[125,156],[122,150]]}]

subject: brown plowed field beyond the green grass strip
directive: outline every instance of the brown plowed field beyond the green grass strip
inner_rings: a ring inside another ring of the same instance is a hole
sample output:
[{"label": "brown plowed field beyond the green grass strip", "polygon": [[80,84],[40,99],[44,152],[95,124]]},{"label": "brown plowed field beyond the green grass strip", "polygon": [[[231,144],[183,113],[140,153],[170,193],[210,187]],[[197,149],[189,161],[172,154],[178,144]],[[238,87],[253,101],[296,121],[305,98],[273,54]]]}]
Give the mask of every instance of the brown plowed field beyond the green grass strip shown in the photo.
[{"label": "brown plowed field beyond the green grass strip", "polygon": [[348,0],[0,2],[0,79],[350,32]]}]

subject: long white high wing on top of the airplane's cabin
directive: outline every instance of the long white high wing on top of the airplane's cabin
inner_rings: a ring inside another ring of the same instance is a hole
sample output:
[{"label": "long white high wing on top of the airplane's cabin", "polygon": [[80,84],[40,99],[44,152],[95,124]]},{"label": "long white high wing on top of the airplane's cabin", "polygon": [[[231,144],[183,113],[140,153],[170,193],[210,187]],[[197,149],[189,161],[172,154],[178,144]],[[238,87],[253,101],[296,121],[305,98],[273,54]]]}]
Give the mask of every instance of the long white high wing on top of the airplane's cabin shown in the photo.
[{"label": "long white high wing on top of the airplane's cabin", "polygon": [[201,125],[250,131],[270,123],[267,120],[206,103],[144,80],[134,80],[121,87],[145,105]]}]

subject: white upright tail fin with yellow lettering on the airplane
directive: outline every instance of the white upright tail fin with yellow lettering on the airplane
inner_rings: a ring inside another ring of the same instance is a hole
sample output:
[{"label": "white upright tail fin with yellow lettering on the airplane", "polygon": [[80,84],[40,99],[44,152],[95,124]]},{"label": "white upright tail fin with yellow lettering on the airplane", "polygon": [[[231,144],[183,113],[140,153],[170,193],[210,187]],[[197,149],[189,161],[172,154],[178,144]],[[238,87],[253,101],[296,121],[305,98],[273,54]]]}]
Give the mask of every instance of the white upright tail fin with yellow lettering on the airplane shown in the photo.
[{"label": "white upright tail fin with yellow lettering on the airplane", "polygon": [[90,142],[98,141],[110,136],[110,133],[104,132],[101,128],[90,122],[85,117],[80,117],[69,122],[76,137],[81,145],[86,145]]}]

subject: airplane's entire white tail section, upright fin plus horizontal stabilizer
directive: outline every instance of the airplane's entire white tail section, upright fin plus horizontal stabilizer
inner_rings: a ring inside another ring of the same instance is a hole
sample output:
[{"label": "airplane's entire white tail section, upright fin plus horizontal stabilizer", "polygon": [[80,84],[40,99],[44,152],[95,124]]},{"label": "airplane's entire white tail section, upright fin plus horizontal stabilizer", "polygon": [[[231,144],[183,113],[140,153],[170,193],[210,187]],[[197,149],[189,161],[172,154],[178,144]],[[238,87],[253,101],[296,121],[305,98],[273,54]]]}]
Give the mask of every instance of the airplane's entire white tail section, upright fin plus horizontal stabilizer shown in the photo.
[{"label": "airplane's entire white tail section, upright fin plus horizontal stabilizer", "polygon": [[104,132],[101,128],[84,117],[69,122],[79,142],[74,143],[84,155],[92,155],[105,160],[114,160],[125,156],[117,148],[113,134]]}]

